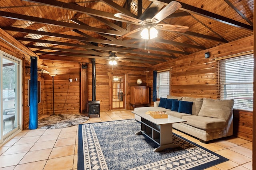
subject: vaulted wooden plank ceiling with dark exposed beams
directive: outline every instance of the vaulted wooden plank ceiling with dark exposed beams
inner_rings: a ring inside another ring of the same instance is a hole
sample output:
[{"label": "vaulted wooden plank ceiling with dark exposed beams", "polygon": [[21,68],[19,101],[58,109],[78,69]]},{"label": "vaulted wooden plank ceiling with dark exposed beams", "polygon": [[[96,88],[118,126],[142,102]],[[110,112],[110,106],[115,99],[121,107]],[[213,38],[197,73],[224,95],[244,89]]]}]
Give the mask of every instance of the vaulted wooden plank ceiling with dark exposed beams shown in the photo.
[{"label": "vaulted wooden plank ceiling with dark exposed beams", "polygon": [[253,0],[177,1],[182,7],[160,23],[185,25],[188,31],[158,30],[149,47],[139,32],[117,39],[141,25],[114,14],[142,20],[172,0],[0,0],[0,28],[40,59],[83,62],[94,58],[106,63],[114,51],[129,61],[120,64],[143,66],[253,34]]}]

